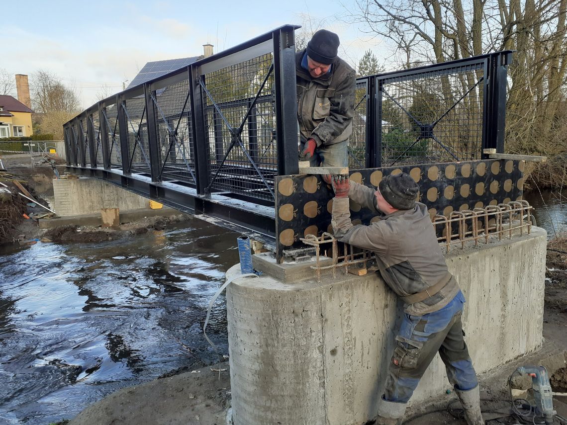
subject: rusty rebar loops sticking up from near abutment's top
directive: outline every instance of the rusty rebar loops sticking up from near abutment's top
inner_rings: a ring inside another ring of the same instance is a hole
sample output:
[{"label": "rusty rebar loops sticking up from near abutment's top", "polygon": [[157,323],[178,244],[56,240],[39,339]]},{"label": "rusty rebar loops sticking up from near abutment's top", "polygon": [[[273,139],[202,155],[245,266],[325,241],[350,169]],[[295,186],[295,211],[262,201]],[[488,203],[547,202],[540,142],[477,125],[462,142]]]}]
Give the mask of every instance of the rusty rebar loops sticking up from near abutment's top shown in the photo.
[{"label": "rusty rebar loops sticking up from near abutment's top", "polygon": [[[445,245],[448,253],[454,244],[460,244],[461,249],[464,249],[469,242],[474,242],[477,246],[479,240],[484,240],[484,243],[488,244],[491,236],[498,236],[498,240],[502,240],[502,235],[506,235],[511,239],[517,231],[523,236],[524,228],[529,235],[532,210],[533,207],[527,201],[512,201],[473,210],[454,211],[448,218],[438,214],[433,217],[431,223],[435,233],[441,235],[437,237],[437,241]],[[331,269],[335,278],[338,268],[344,269],[347,274],[350,266],[362,264],[366,268],[367,262],[375,259],[371,251],[356,249],[346,243],[342,254],[339,255],[338,240],[328,232],[323,232],[319,237],[307,235],[300,240],[315,247],[315,265],[311,266],[311,269],[316,271],[318,282],[321,279],[321,270]],[[321,254],[331,258],[332,264],[321,266]]]}]

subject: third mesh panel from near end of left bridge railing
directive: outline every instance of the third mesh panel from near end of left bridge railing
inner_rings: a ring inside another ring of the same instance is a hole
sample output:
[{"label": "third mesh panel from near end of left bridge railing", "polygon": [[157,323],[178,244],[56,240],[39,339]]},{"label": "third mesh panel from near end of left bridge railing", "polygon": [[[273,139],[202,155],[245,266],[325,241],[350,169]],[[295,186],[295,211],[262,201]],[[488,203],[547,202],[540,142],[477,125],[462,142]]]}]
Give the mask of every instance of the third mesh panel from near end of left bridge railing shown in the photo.
[{"label": "third mesh panel from near end of left bridge railing", "polygon": [[150,174],[150,151],[147,135],[146,99],[144,96],[126,99],[126,125],[128,126],[128,163],[132,173]]}]

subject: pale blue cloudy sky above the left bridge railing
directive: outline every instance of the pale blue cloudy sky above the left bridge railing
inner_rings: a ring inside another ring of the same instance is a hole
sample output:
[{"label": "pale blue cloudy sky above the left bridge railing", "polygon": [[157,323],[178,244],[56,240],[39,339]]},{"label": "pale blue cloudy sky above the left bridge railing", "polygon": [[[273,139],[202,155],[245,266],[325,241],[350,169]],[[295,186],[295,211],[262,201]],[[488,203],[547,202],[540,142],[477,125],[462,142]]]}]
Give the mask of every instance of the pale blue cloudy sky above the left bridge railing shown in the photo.
[{"label": "pale blue cloudy sky above the left bridge railing", "polygon": [[[307,23],[336,32],[339,56],[356,65],[370,49],[380,63],[386,47],[349,24],[356,0],[3,2],[0,68],[11,74],[37,70],[58,75],[77,90],[82,107],[128,86],[146,62],[218,53],[285,24]],[[317,28],[315,28],[317,29]],[[388,67],[387,67],[388,68]]]}]

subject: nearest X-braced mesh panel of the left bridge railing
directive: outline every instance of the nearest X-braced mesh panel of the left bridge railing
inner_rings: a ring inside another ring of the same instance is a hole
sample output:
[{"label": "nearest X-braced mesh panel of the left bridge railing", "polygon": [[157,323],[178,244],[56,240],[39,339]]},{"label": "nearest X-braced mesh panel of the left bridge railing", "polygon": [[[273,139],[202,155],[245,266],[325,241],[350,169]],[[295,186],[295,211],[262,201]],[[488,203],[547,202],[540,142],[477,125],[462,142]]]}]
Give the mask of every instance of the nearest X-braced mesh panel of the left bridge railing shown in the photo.
[{"label": "nearest X-braced mesh panel of the left bridge railing", "polygon": [[277,174],[272,54],[205,74],[210,190],[273,202]]}]

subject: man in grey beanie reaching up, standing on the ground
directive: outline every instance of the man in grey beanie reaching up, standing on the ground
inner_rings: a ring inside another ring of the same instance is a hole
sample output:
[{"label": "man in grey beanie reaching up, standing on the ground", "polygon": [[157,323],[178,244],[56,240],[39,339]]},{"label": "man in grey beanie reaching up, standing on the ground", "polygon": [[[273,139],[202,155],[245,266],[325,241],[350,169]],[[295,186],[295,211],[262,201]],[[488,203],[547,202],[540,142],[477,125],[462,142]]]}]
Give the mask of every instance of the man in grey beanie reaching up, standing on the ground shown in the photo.
[{"label": "man in grey beanie reaching up, standing on the ground", "polygon": [[[376,425],[399,425],[405,407],[437,352],[469,425],[484,425],[479,383],[464,342],[464,295],[448,271],[427,207],[407,173],[389,175],[377,190],[333,176],[335,237],[376,254],[384,283],[404,301]],[[350,221],[349,202],[373,210],[369,226]]]}]

